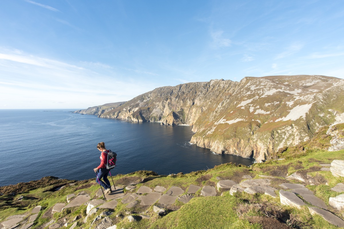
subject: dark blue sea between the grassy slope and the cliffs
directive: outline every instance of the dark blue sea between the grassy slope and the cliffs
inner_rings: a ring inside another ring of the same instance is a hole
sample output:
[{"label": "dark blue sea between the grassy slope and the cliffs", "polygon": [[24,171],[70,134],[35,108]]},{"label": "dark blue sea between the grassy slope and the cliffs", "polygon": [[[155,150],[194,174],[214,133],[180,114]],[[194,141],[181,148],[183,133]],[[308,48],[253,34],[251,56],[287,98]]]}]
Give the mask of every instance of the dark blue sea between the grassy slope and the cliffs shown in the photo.
[{"label": "dark blue sea between the grassy slope and the cliffs", "polygon": [[[77,110],[77,109],[75,109]],[[0,110],[0,186],[54,176],[95,178],[99,142],[117,153],[112,176],[137,170],[161,175],[213,168],[252,158],[218,155],[190,144],[191,126],[123,122],[74,114],[74,109]]]}]

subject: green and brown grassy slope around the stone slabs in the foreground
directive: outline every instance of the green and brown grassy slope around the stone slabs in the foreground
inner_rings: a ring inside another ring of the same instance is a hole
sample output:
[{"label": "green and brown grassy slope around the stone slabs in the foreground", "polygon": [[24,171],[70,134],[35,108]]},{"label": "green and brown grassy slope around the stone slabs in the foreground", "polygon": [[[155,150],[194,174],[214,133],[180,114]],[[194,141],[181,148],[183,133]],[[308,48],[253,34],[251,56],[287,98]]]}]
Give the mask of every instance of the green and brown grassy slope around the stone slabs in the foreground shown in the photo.
[{"label": "green and brown grassy slope around the stone slabs in the foreground", "polygon": [[[178,186],[187,192],[190,184],[198,186],[215,186],[219,179],[229,179],[241,182],[244,175],[250,175],[254,179],[261,179],[261,175],[270,176],[273,188],[281,190],[281,183],[302,183],[300,181],[288,181],[285,178],[294,172],[306,174],[313,179],[313,185],[304,183],[305,186],[314,192],[314,195],[325,202],[329,210],[338,217],[343,218],[342,211],[336,211],[329,205],[329,197],[335,197],[341,193],[331,190],[337,183],[344,183],[343,177],[334,177],[330,171],[321,171],[320,164],[330,164],[334,159],[344,159],[344,150],[329,152],[319,149],[320,146],[326,145],[329,137],[319,132],[312,140],[295,147],[285,149],[275,155],[278,159],[271,159],[265,163],[254,164],[251,167],[223,164],[213,169],[196,171],[188,174],[176,174],[175,176],[159,176],[152,171],[137,171],[130,174],[118,174],[114,176],[116,186],[126,186],[131,183],[138,183],[136,189],[141,186],[148,186],[154,189],[157,185],[165,187],[167,190],[172,186]],[[113,170],[115,171],[115,170]],[[94,218],[106,209],[101,209],[96,215],[92,215],[84,223],[86,217],[86,205],[80,207],[68,208],[60,213],[50,215],[52,207],[56,203],[66,203],[66,195],[74,193],[87,193],[92,199],[103,198],[97,197],[99,184],[94,179],[78,181],[74,186],[66,185],[59,191],[52,191],[58,182],[56,178],[49,178],[50,184],[47,186],[38,186],[35,189],[20,189],[24,184],[0,187],[3,193],[0,197],[0,222],[6,220],[11,215],[23,215],[29,213],[35,206],[41,205],[42,210],[39,217],[35,220],[33,229],[44,228],[44,226],[54,220],[56,222],[71,222],[77,217],[78,226],[76,228],[95,228],[97,224],[92,225]],[[143,180],[143,182],[141,182]],[[65,183],[65,180],[62,180]],[[46,180],[44,181],[46,182]],[[111,181],[112,182],[112,181]],[[141,182],[141,183],[140,183]],[[62,185],[63,183],[60,183]],[[16,191],[14,195],[10,193]],[[125,192],[130,192],[125,190]],[[168,214],[159,216],[153,212],[153,206],[141,206],[127,209],[126,205],[121,203],[110,215],[110,219],[117,228],[337,228],[325,221],[320,216],[312,216],[307,207],[297,209],[294,207],[282,205],[278,191],[277,197],[273,198],[265,194],[248,194],[245,192],[236,192],[234,195],[229,194],[229,190],[220,189],[216,196],[204,197],[201,190],[196,192],[195,197],[187,204],[176,201],[174,204],[157,204],[168,209]],[[16,201],[20,196],[23,200]],[[312,206],[308,203],[308,206]],[[136,222],[129,222],[127,213],[139,216],[148,215],[149,219],[141,219]],[[118,217],[117,217],[118,216]],[[27,216],[29,218],[29,216]],[[65,220],[65,221],[64,221]],[[72,224],[68,224],[67,229]],[[48,228],[48,227],[46,227]],[[64,227],[65,228],[65,227]]]}]

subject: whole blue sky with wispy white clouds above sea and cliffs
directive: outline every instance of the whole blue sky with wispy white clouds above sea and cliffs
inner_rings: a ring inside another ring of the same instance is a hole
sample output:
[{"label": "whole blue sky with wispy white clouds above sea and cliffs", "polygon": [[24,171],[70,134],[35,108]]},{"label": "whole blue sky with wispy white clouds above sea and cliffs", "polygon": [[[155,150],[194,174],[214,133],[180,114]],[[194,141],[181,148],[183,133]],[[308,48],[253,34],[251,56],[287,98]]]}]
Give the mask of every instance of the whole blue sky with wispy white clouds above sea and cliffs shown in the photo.
[{"label": "whole blue sky with wispy white clouds above sea and cliffs", "polygon": [[344,1],[0,1],[0,109],[299,74],[344,78]]}]

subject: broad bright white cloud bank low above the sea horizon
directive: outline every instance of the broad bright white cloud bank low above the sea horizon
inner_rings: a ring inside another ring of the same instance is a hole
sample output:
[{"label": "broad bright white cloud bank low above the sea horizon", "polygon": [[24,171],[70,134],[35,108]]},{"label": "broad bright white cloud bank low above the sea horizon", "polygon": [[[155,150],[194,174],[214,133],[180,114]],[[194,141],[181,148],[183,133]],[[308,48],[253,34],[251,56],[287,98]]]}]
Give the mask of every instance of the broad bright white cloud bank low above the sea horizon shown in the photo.
[{"label": "broad bright white cloud bank low above the sea horizon", "polygon": [[59,108],[59,102],[65,102],[60,108],[86,108],[126,101],[162,86],[130,77],[121,80],[106,64],[69,64],[20,50],[0,48],[0,66],[0,109]]}]

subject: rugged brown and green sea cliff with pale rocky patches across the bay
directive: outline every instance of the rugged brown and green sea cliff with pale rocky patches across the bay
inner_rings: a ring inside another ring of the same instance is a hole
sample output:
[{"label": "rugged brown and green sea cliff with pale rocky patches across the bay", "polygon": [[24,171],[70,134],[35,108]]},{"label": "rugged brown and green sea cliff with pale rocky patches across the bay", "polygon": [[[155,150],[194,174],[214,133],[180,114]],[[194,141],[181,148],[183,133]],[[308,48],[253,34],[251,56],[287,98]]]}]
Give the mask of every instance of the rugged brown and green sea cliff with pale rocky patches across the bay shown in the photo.
[{"label": "rugged brown and green sea cliff with pale rocky patches across the bay", "polygon": [[344,80],[320,75],[265,76],[160,87],[98,114],[193,125],[192,143],[218,154],[262,161],[334,123],[344,112],[343,104]]}]

